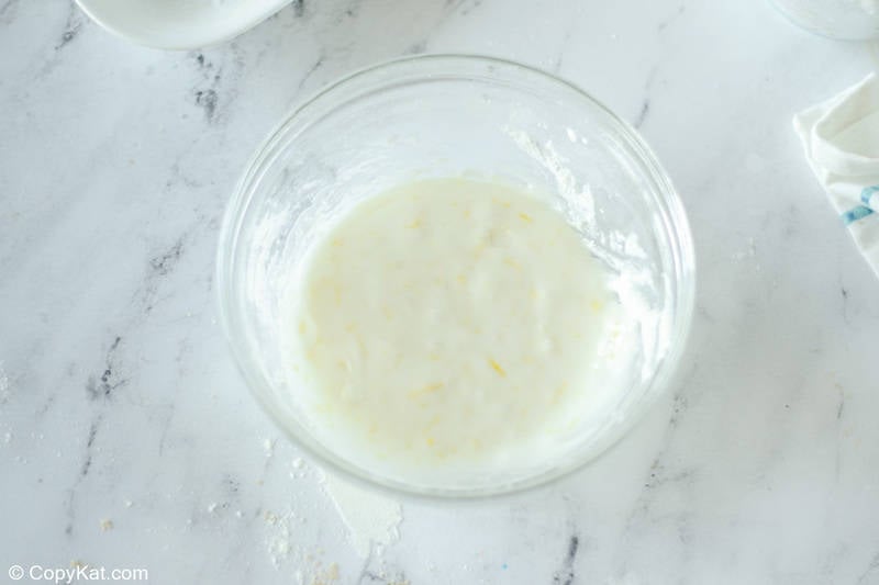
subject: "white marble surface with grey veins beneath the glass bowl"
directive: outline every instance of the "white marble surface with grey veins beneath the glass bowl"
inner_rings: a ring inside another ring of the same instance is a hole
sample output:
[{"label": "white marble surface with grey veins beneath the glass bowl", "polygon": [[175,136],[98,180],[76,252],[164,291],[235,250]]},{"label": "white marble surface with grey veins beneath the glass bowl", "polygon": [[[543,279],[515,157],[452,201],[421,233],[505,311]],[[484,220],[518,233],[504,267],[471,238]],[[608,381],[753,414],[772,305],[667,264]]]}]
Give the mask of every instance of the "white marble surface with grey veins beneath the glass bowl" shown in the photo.
[{"label": "white marble surface with grey veins beneath the glass bowl", "polygon": [[[690,214],[698,313],[668,398],[596,464],[403,502],[364,560],[231,362],[213,255],[287,109],[415,52],[558,71],[636,122]],[[193,53],[0,0],[0,581],[879,583],[879,282],[790,127],[876,54],[760,0],[304,0]]]}]

